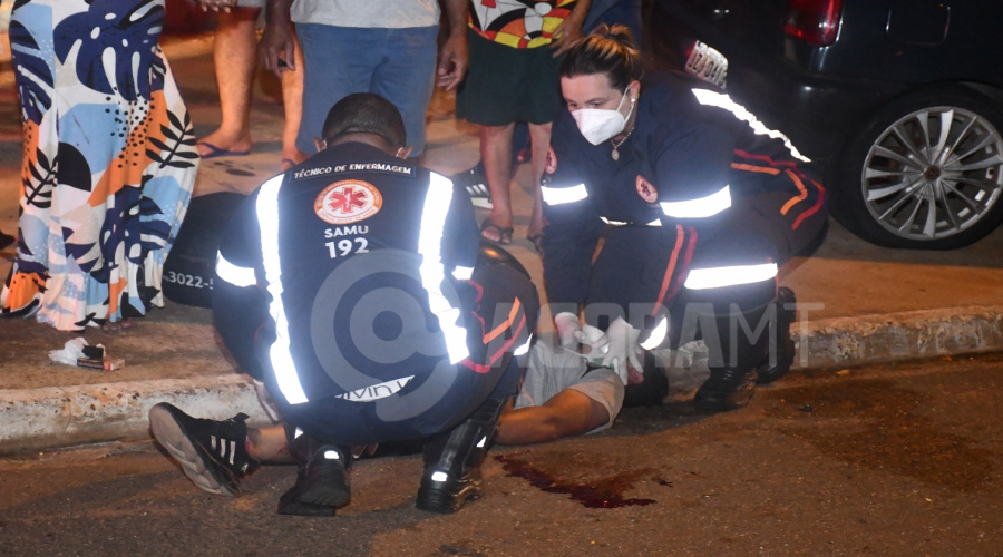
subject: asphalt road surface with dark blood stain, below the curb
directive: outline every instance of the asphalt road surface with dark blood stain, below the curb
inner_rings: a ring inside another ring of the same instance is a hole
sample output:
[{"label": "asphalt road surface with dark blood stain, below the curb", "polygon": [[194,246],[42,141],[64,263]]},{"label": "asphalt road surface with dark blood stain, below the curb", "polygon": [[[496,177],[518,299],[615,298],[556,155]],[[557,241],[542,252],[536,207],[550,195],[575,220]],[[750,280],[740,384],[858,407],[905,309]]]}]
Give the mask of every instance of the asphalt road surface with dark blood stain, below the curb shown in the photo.
[{"label": "asphalt road surface with dark blood stain, below the curb", "polygon": [[3,555],[1003,555],[1003,355],[807,372],[747,409],[625,411],[495,448],[487,495],[415,508],[417,456],[361,460],[334,518],[279,516],[294,468],[237,499],[152,442],[0,459]]}]

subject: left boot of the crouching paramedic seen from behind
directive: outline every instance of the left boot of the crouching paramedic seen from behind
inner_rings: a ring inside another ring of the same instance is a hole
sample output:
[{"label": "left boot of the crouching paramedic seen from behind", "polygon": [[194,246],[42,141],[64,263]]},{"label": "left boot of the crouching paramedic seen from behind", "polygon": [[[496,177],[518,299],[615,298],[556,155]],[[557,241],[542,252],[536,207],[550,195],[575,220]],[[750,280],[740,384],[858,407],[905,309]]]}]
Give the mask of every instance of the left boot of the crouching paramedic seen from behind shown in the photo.
[{"label": "left boot of the crouching paramedic seen from behind", "polygon": [[279,500],[280,515],[334,516],[351,499],[351,452],[300,432],[288,432],[289,452],[296,460],[296,483]]}]

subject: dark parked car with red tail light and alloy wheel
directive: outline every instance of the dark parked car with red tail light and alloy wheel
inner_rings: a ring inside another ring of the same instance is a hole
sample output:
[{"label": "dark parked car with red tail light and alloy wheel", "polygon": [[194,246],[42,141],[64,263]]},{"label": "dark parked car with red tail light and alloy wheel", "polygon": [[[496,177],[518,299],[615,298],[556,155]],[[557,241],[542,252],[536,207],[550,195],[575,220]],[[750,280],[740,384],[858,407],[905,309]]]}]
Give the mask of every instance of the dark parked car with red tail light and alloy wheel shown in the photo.
[{"label": "dark parked car with red tail light and alloy wheel", "polygon": [[1003,2],[655,0],[658,58],[822,165],[860,237],[948,250],[1003,221]]}]

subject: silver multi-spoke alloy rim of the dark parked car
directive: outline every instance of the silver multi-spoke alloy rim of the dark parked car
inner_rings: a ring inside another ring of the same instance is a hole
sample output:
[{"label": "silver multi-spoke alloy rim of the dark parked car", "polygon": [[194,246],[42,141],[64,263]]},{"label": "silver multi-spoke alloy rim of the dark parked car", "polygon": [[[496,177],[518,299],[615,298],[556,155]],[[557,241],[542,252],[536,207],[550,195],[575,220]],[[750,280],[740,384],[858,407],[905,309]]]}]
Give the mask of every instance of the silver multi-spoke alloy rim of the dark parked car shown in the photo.
[{"label": "silver multi-spoke alloy rim of the dark parked car", "polygon": [[908,240],[951,237],[1003,196],[1003,138],[970,110],[916,110],[871,145],[861,185],[868,212],[885,229]]}]

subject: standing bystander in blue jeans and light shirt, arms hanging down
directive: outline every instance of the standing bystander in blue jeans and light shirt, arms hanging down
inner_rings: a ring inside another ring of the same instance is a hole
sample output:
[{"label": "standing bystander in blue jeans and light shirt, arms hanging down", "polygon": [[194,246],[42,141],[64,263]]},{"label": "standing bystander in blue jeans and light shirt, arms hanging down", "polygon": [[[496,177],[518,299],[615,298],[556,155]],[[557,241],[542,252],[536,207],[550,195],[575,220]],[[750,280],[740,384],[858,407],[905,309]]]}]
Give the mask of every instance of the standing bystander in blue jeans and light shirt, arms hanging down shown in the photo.
[{"label": "standing bystander in blue jeans and light shirt, arms hanging down", "polygon": [[331,106],[373,92],[400,110],[415,156],[425,150],[425,116],[436,74],[452,89],[467,69],[466,0],[440,0],[450,23],[436,69],[439,4],[422,0],[267,0],[259,53],[265,69],[296,69],[290,21],[303,49],[303,119],[296,138],[309,153]]}]

